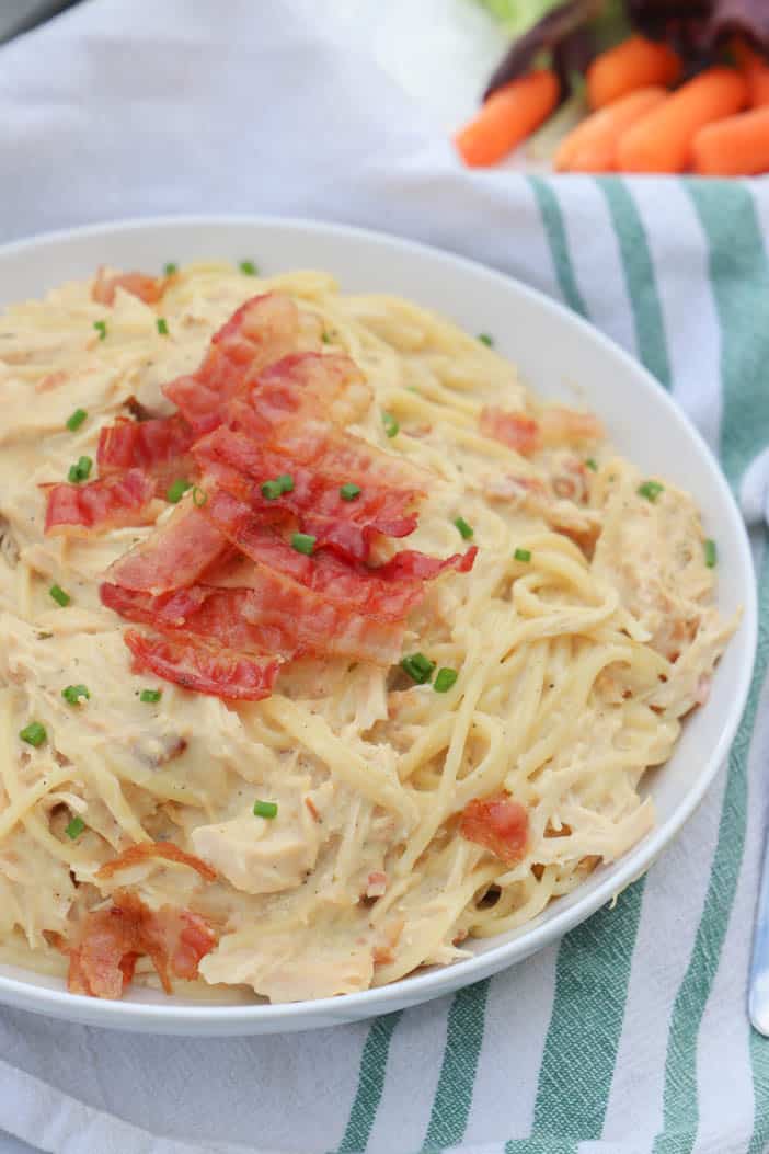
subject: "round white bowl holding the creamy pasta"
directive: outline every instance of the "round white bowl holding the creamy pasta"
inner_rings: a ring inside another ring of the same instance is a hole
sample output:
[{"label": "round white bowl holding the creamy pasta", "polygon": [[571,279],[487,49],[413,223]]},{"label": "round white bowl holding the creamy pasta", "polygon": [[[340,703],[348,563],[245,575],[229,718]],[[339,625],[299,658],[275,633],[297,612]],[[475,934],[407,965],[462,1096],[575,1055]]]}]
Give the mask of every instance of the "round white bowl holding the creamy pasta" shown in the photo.
[{"label": "round white bowl holding the creamy pasta", "polygon": [[473,957],[382,989],[289,1005],[199,1005],[131,990],[122,1002],[68,994],[53,979],[0,966],[0,1001],[93,1026],[164,1034],[269,1034],[389,1013],[477,982],[560,937],[641,875],[678,833],[726,758],[745,705],[756,645],[753,563],[729,487],[700,435],[664,389],[632,358],[573,313],[507,277],[421,245],[357,228],[257,217],[182,217],[97,225],[0,248],[0,306],[39,297],[100,263],[160,270],[165,262],[246,257],[266,275],[299,268],[334,273],[347,292],[390,292],[435,308],[497,347],[541,395],[571,396],[605,421],[615,444],[644,472],[688,489],[708,535],[729,564],[718,604],[742,620],[716,672],[707,705],[686,722],[671,760],[649,779],[657,824],[620,861],[520,929],[470,944]]}]

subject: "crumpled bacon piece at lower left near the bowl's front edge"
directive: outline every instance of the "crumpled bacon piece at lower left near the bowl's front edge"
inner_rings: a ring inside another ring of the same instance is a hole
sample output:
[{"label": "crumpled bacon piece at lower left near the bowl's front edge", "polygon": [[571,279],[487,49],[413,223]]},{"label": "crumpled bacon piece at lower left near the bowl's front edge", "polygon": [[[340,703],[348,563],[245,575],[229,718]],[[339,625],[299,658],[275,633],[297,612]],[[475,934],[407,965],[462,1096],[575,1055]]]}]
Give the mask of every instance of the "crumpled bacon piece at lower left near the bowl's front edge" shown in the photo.
[{"label": "crumpled bacon piece at lower left near the bowl's front edge", "polygon": [[168,973],[194,979],[201,958],[217,943],[211,927],[188,909],[149,909],[134,893],[119,890],[112,905],[85,915],[69,953],[68,988],[73,994],[119,998],[134,976],[136,961],[151,958],[166,994]]}]

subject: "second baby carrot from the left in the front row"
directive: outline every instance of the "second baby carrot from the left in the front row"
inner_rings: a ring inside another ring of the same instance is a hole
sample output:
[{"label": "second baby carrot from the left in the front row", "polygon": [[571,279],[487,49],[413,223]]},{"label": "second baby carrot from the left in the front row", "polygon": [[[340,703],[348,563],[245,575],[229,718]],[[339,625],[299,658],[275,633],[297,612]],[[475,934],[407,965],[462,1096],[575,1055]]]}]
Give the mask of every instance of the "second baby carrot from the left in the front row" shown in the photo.
[{"label": "second baby carrot from the left in the front row", "polygon": [[560,142],[555,167],[559,172],[611,172],[623,133],[666,98],[664,88],[639,88],[594,112]]}]

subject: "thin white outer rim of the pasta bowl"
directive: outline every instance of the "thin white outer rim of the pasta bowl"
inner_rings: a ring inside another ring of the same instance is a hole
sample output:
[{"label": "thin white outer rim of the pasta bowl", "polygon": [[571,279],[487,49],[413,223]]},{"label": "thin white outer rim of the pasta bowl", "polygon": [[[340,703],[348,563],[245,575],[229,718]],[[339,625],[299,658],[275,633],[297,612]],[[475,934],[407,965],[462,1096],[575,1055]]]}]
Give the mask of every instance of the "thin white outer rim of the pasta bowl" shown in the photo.
[{"label": "thin white outer rim of the pasta bowl", "polygon": [[[474,277],[482,277],[491,287],[496,285],[505,292],[512,290],[522,298],[527,298],[529,304],[537,306],[549,314],[553,323],[573,327],[583,337],[597,344],[602,353],[612,357],[615,364],[621,364],[624,369],[633,373],[636,377],[640,375],[646,379],[647,385],[651,385],[655,389],[658,403],[663,409],[668,410],[668,414],[678,424],[683,435],[688,435],[695,443],[699,454],[704,455],[707,458],[708,469],[713,474],[716,487],[721,490],[724,507],[729,510],[732,522],[731,527],[736,530],[736,537],[739,541],[739,559],[733,557],[732,562],[739,562],[736,569],[739,570],[742,578],[748,575],[751,578],[740,580],[739,590],[742,601],[742,616],[739,628],[744,634],[742,645],[746,646],[749,661],[746,661],[740,667],[732,685],[731,704],[725,714],[718,740],[706,765],[692,781],[688,792],[679,802],[677,809],[664,820],[659,822],[659,824],[655,825],[651,832],[623,857],[612,863],[606,870],[606,876],[594,890],[586,893],[581,900],[576,900],[573,905],[559,911],[556,909],[556,913],[542,924],[534,924],[528,930],[521,927],[521,931],[517,937],[499,945],[490,946],[481,954],[453,962],[447,967],[432,967],[423,973],[401,977],[387,986],[375,987],[356,994],[319,998],[314,1002],[278,1003],[274,1005],[259,1002],[198,1005],[191,1002],[174,1002],[171,999],[157,1003],[133,1001],[108,1002],[80,994],[70,994],[67,990],[53,989],[46,986],[35,986],[20,977],[0,974],[0,1003],[55,1018],[68,1018],[70,1020],[89,1022],[90,1025],[118,1029],[141,1029],[154,1033],[197,1033],[201,1036],[213,1036],[217,1033],[249,1034],[256,1032],[278,1033],[281,1029],[309,1029],[317,1026],[327,1026],[334,1021],[345,1022],[371,1018],[378,1013],[391,1012],[402,1005],[410,1006],[428,1002],[460,987],[481,981],[490,974],[507,968],[507,966],[512,966],[515,961],[520,961],[549,943],[559,939],[564,934],[591,916],[606,901],[611,900],[613,896],[621,892],[621,890],[644,874],[656,856],[673,840],[701,803],[718,770],[724,764],[731,743],[737,734],[752,683],[757,647],[757,592],[747,531],[726,478],[699,429],[696,429],[687,414],[676,404],[672,396],[634,357],[583,317],[568,309],[564,304],[548,297],[537,288],[523,284],[513,276],[446,249],[371,228],[302,217],[219,212],[128,217],[36,233],[32,237],[0,245],[0,275],[2,273],[2,263],[6,257],[20,253],[33,252],[62,241],[76,243],[78,240],[86,240],[95,237],[108,239],[114,234],[142,232],[158,227],[174,230],[189,227],[232,228],[233,226],[256,230],[284,230],[296,234],[323,234],[330,238],[339,237],[353,241],[357,239],[368,246],[395,249],[404,255],[413,256],[417,260],[442,263],[446,268],[447,275],[452,275],[454,270],[459,269]],[[574,892],[579,892],[579,890]]]}]

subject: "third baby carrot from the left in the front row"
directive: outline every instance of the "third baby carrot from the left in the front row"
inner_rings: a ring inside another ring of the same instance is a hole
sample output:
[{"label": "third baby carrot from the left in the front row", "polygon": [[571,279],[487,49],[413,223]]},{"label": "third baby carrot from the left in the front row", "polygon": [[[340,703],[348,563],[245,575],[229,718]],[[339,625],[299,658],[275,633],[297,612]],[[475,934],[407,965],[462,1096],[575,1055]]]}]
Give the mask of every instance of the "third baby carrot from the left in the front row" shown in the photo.
[{"label": "third baby carrot from the left in the front row", "polygon": [[695,133],[747,104],[747,84],[732,68],[708,68],[631,125],[617,147],[620,172],[684,172]]}]

